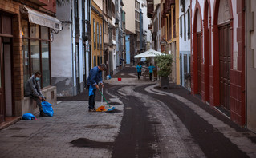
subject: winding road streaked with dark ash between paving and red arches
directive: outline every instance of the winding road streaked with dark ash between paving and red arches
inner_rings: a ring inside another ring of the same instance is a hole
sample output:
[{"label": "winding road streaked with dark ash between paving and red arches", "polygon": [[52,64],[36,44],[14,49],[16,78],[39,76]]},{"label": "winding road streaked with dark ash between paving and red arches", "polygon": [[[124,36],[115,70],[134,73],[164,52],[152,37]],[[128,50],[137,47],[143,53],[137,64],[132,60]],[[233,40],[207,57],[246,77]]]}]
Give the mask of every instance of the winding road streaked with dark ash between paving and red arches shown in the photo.
[{"label": "winding road streaked with dark ash between paving and red arches", "polygon": [[[134,72],[131,69],[128,73]],[[116,77],[122,73],[129,76],[120,72]],[[109,88],[108,93],[124,103],[112,157],[256,156],[254,133],[238,127],[179,85],[161,90],[155,83],[124,83]]]}]

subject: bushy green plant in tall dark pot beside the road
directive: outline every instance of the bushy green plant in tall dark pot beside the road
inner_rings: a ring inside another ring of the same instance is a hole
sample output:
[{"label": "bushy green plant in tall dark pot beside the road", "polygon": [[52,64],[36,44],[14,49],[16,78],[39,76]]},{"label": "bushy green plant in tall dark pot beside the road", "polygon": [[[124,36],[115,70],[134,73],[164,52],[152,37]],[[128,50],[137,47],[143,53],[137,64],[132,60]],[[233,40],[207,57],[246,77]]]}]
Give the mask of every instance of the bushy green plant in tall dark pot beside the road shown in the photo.
[{"label": "bushy green plant in tall dark pot beside the road", "polygon": [[160,69],[158,74],[161,81],[161,89],[169,89],[169,75],[172,73],[173,56],[170,54],[156,56],[156,65]]}]

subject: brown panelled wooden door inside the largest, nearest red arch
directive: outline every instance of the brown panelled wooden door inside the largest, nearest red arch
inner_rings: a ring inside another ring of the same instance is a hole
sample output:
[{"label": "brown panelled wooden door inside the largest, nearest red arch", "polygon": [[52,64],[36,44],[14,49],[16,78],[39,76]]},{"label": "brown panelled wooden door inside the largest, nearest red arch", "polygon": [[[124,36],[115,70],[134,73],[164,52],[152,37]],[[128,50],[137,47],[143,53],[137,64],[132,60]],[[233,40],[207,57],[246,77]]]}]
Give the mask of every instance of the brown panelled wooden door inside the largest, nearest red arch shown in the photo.
[{"label": "brown panelled wooden door inside the largest, nearest red arch", "polygon": [[230,25],[221,26],[219,28],[220,37],[220,105],[230,110],[230,46],[231,33]]}]

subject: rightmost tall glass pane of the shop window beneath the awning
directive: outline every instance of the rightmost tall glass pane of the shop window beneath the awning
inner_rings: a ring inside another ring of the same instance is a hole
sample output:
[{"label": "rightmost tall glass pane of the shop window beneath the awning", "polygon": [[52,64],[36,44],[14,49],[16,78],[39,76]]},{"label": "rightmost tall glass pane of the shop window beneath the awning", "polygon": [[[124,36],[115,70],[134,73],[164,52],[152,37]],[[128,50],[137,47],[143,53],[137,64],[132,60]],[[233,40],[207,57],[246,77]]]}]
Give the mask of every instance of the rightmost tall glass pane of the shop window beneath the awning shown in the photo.
[{"label": "rightmost tall glass pane of the shop window beneath the awning", "polygon": [[42,83],[43,87],[50,85],[49,42],[42,41]]}]

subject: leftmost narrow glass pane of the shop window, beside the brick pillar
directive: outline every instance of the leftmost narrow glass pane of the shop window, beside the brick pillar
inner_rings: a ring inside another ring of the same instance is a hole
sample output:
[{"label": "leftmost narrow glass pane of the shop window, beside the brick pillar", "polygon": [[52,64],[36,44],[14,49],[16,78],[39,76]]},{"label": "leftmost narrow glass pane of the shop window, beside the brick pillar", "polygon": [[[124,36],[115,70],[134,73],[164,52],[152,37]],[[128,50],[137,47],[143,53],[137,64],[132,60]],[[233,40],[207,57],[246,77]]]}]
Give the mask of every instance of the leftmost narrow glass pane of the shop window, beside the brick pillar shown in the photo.
[{"label": "leftmost narrow glass pane of the shop window, beside the brick pillar", "polygon": [[24,75],[24,85],[26,81],[30,78],[30,54],[28,49],[28,40],[23,39],[22,42],[22,53],[23,53],[23,75]]}]

